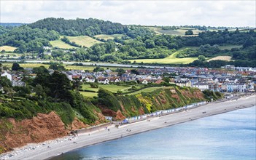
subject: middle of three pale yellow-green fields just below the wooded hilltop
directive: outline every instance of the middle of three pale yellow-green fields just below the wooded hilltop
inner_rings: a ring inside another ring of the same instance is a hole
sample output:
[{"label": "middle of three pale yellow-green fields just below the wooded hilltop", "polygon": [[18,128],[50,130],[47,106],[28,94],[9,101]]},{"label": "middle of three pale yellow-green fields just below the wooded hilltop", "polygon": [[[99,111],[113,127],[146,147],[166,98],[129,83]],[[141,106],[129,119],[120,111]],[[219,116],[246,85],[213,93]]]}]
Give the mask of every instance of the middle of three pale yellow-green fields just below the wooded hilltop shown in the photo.
[{"label": "middle of three pale yellow-green fields just below the wooded hilltop", "polygon": [[90,36],[66,36],[69,41],[74,41],[74,43],[81,45],[82,47],[91,47],[94,44],[102,43],[96,39],[91,38]]}]

